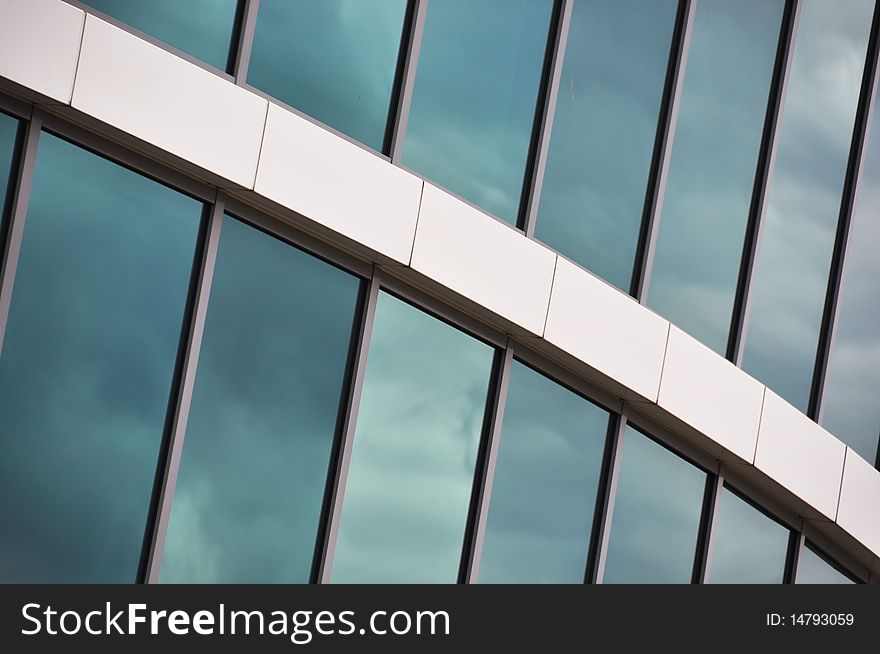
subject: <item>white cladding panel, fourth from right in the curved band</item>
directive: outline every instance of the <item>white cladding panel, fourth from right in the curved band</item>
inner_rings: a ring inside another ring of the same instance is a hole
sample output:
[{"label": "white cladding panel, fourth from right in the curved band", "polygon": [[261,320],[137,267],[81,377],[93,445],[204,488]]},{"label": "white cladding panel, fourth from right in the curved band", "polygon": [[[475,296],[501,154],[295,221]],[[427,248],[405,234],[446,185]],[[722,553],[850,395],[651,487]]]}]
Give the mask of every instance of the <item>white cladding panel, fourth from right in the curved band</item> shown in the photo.
[{"label": "white cladding panel, fourth from right in the curved band", "polygon": [[559,258],[544,338],[656,402],[669,322]]}]

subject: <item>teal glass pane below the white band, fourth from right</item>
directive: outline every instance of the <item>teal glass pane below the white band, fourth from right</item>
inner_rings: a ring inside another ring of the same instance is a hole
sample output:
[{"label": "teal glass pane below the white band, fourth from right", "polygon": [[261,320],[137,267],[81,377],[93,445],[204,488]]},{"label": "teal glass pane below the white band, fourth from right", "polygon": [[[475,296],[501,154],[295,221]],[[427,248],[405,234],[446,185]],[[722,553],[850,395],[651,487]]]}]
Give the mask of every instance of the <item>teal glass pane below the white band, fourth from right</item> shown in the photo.
[{"label": "teal glass pane below the white band, fourth from right", "polygon": [[514,361],[483,583],[584,581],[608,412]]}]

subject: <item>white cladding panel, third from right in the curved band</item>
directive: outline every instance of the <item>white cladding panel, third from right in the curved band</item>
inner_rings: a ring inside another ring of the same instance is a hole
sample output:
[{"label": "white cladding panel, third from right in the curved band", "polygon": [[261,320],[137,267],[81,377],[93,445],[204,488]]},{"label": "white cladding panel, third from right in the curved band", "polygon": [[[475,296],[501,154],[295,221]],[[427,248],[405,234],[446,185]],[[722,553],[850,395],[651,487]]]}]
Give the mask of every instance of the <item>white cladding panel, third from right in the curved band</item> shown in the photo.
[{"label": "white cladding panel, third from right in the curved band", "polygon": [[764,385],[674,325],[658,404],[751,463]]}]

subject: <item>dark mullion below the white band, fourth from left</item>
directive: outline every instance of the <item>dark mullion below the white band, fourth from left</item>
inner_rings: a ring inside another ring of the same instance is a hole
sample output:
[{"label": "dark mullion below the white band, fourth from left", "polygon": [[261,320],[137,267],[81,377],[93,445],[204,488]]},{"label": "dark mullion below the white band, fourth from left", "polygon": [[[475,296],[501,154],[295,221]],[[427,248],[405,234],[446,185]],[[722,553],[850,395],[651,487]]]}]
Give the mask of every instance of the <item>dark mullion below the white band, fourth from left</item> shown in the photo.
[{"label": "dark mullion below the white band, fourth from left", "polygon": [[477,582],[480,572],[480,557],[483,553],[483,539],[486,535],[486,520],[489,515],[489,501],[492,497],[492,484],[495,480],[495,465],[498,462],[498,448],[501,441],[501,425],[504,421],[504,408],[507,390],[510,386],[510,369],[513,362],[513,346],[496,354],[493,383],[483,420],[483,437],[474,466],[474,484],[471,491],[471,504],[468,511],[467,528],[462,548],[459,568],[460,583]]}]

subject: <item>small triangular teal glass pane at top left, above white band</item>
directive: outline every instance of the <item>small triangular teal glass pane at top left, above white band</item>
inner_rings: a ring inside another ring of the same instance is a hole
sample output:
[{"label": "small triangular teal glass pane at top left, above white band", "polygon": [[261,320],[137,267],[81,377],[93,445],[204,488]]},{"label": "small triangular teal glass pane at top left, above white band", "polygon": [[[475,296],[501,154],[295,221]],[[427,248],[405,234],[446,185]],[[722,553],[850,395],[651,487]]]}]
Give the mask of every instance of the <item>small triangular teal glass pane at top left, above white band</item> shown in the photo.
[{"label": "small triangular teal glass pane at top left, above white band", "polygon": [[207,64],[227,70],[238,0],[82,0]]}]

